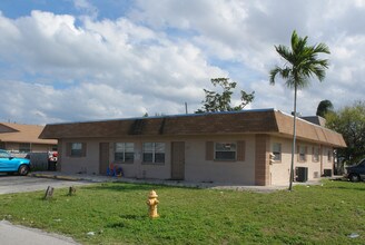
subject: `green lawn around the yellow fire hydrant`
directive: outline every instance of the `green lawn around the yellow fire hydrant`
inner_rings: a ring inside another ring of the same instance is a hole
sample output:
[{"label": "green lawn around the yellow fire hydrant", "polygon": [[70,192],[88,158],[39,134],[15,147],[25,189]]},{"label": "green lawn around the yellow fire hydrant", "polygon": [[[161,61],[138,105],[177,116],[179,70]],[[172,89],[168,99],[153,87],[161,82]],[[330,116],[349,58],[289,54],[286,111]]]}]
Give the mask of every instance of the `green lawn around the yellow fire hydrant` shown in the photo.
[{"label": "green lawn around the yellow fire hydrant", "polygon": [[[152,188],[157,219],[147,217]],[[365,244],[364,183],[327,180],[270,194],[108,183],[67,194],[2,195],[0,218],[82,244]]]}]

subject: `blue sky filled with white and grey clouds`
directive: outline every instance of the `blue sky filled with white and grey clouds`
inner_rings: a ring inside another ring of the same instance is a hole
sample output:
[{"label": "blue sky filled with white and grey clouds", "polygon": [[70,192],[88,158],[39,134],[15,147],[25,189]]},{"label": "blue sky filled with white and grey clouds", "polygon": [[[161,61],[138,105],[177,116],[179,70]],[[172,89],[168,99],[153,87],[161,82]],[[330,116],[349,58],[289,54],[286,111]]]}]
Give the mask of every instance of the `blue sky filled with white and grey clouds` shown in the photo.
[{"label": "blue sky filled with white and grey clouds", "polygon": [[362,0],[1,0],[0,121],[194,112],[217,77],[255,91],[246,109],[289,112],[293,90],[268,72],[293,30],[332,52],[298,111],[341,108],[365,95],[364,23]]}]

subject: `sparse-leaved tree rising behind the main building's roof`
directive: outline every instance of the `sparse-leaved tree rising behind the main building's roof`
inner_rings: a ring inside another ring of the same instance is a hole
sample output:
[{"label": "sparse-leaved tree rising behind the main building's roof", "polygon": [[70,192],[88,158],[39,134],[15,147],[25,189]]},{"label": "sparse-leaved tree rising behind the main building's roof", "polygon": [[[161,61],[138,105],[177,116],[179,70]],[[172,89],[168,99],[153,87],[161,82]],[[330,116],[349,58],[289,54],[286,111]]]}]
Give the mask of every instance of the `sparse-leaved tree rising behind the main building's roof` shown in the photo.
[{"label": "sparse-leaved tree rising behind the main building's roof", "polygon": [[231,90],[236,88],[237,82],[229,82],[229,78],[211,78],[210,81],[215,87],[220,86],[223,92],[219,94],[216,91],[204,89],[206,96],[205,100],[201,101],[203,108],[195,111],[196,114],[241,110],[255,98],[255,91],[253,91],[251,94],[247,94],[246,91],[240,90],[241,102],[237,106],[231,106],[230,98],[234,94]]}]

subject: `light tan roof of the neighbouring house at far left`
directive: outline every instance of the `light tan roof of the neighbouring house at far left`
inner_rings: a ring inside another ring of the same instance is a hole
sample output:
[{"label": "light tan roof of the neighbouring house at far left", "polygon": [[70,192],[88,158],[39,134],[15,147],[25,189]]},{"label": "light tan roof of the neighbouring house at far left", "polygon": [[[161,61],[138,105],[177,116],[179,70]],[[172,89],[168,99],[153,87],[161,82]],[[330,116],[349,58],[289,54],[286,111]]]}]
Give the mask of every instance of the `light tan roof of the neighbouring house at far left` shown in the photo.
[{"label": "light tan roof of the neighbouring house at far left", "polygon": [[0,141],[57,145],[55,139],[39,138],[43,128],[38,125],[0,122]]}]

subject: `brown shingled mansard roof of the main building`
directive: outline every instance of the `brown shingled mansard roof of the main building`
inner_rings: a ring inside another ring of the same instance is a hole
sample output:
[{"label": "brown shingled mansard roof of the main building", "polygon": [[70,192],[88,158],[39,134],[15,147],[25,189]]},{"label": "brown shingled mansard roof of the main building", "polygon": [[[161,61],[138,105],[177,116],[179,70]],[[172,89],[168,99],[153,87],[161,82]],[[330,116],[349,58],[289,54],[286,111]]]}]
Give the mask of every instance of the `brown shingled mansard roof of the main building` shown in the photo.
[{"label": "brown shingled mansard roof of the main building", "polygon": [[[241,110],[144,117],[105,121],[47,125],[43,139],[105,138],[126,136],[193,136],[231,134],[272,134],[293,136],[293,116],[275,109]],[[341,134],[297,119],[298,139],[319,141],[334,147],[346,147]]]}]

